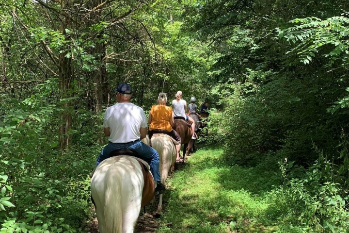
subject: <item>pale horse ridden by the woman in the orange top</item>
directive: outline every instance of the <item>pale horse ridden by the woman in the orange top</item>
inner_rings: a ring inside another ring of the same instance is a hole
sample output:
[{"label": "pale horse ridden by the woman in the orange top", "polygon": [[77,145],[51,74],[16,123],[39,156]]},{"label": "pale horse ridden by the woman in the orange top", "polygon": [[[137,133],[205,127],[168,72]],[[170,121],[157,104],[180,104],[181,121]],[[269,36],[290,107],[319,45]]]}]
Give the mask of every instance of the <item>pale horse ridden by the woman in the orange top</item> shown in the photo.
[{"label": "pale horse ridden by the woman in the orange top", "polygon": [[[161,183],[165,183],[168,177],[169,170],[176,160],[176,148],[178,142],[171,136],[163,133],[154,133],[151,138],[152,147],[159,153],[159,167],[161,175]],[[162,194],[159,195],[158,210],[155,216],[161,215],[162,209]]]}]

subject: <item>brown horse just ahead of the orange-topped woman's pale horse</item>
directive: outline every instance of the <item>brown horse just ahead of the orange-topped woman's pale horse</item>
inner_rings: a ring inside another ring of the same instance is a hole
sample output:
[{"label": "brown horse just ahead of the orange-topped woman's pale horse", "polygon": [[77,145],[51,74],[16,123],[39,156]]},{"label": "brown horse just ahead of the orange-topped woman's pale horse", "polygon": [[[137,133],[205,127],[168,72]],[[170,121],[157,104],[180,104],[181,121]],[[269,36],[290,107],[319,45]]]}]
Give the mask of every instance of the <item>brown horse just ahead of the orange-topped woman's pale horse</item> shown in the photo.
[{"label": "brown horse just ahead of the orange-topped woman's pale horse", "polygon": [[189,150],[191,148],[191,128],[190,128],[190,123],[187,123],[186,120],[184,119],[174,119],[174,130],[179,134],[181,137],[181,144],[184,144],[183,147],[183,163],[184,163],[184,157],[186,153],[189,153]]}]

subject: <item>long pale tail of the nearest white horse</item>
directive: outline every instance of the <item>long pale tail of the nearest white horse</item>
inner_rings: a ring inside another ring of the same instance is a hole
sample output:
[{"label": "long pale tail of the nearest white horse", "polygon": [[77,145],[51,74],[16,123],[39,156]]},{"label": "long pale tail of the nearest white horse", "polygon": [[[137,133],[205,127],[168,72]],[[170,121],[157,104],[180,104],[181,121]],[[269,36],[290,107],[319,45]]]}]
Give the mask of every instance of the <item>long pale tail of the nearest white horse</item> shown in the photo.
[{"label": "long pale tail of the nearest white horse", "polygon": [[115,172],[116,169],[110,169],[110,176],[107,179],[105,190],[105,233],[122,232],[122,193],[121,179]]}]

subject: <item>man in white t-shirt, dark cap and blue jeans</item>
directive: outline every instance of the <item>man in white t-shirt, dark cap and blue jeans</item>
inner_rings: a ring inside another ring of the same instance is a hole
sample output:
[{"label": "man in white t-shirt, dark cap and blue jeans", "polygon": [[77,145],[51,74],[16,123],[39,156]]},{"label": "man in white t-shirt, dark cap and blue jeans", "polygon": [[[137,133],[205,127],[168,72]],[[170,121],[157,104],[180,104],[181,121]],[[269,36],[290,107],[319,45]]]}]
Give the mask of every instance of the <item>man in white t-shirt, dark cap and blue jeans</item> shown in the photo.
[{"label": "man in white t-shirt, dark cap and blue jeans", "polygon": [[109,143],[97,157],[96,166],[111,157],[114,150],[134,150],[144,159],[150,160],[150,170],[155,181],[155,195],[163,193],[165,186],[160,182],[159,153],[141,139],[146,137],[148,123],[141,107],[130,102],[132,88],[121,83],[116,90],[117,104],[107,108],[103,127]]}]

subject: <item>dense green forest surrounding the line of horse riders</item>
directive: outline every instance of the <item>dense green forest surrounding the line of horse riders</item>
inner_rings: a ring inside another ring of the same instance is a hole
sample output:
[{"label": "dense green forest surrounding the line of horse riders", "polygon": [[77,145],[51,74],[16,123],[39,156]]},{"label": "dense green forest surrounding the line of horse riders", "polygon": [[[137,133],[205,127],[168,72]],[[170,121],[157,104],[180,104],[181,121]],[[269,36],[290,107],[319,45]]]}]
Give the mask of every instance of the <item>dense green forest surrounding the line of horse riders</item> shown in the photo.
[{"label": "dense green forest surrounding the line of horse riders", "polygon": [[209,189],[171,199],[189,161],[157,232],[349,232],[348,0],[1,0],[0,233],[91,232],[119,83],[146,115],[159,92],[210,104],[200,169],[225,199],[175,212]]}]

